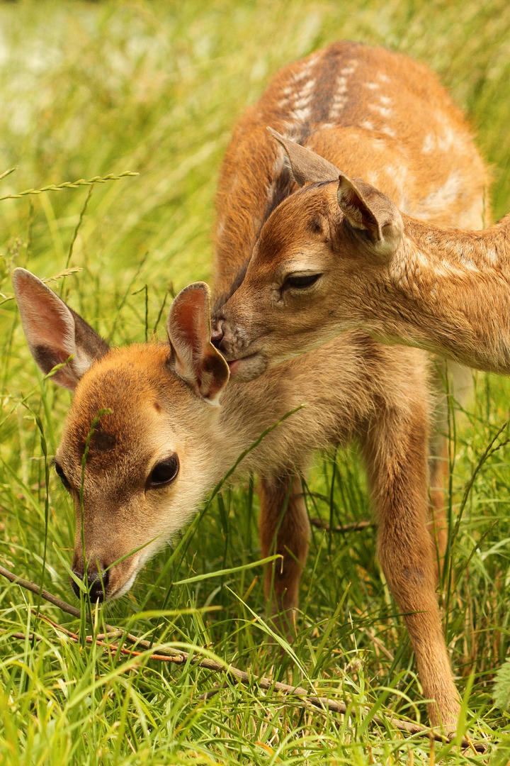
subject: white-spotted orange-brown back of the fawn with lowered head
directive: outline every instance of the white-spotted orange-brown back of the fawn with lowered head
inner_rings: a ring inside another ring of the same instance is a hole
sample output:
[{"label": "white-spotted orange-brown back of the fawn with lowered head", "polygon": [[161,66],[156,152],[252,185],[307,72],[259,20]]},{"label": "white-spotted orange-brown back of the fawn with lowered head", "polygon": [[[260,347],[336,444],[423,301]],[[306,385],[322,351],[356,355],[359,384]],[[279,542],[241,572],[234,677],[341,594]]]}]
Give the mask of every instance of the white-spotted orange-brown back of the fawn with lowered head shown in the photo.
[{"label": "white-spotted orange-brown back of the fawn with lowered head", "polygon": [[481,228],[487,172],[427,67],[341,41],[281,69],[236,126],[216,196],[216,306],[242,282],[271,211],[295,191],[278,130],[430,223]]}]

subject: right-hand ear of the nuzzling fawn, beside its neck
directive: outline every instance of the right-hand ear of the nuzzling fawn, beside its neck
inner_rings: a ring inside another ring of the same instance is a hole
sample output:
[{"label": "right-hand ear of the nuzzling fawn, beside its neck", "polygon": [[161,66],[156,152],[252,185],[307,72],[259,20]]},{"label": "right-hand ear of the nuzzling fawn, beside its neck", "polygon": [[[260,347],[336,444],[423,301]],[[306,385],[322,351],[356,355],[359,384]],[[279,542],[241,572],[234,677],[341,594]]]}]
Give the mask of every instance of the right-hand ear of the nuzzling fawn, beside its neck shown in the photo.
[{"label": "right-hand ear of the nuzzling fawn, beside its neck", "polygon": [[369,252],[380,263],[388,263],[404,231],[402,216],[393,202],[361,178],[351,180],[343,173],[339,173],[337,198],[347,224],[364,235]]}]

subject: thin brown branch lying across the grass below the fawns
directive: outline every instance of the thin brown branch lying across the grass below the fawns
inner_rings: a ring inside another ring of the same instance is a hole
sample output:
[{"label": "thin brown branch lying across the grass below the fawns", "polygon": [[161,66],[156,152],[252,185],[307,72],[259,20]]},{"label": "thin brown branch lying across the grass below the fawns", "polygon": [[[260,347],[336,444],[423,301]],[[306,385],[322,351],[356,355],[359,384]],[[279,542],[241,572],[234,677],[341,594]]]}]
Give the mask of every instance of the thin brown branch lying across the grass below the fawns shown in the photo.
[{"label": "thin brown branch lying across the grass below the fawns", "polygon": [[[0,575],[3,575],[3,577],[7,578],[9,581],[15,584],[21,585],[22,588],[26,588],[28,591],[32,591],[32,593],[41,594],[41,596],[46,601],[50,601],[50,604],[54,604],[55,606],[59,607],[61,611],[66,612],[67,614],[71,614],[73,617],[80,617],[79,609],[76,609],[76,607],[73,607],[71,604],[67,604],[66,601],[63,601],[57,596],[54,596],[49,591],[41,590],[41,588],[39,588],[39,586],[34,582],[21,578],[2,566],[0,566]],[[55,623],[53,620],[50,620],[49,617],[46,617],[42,614],[40,614],[39,617],[46,620],[60,632],[64,633],[67,637],[70,638],[70,640],[76,642],[80,640],[76,633],[67,630],[67,628],[59,625],[58,623]],[[89,620],[88,614],[86,614],[86,619]],[[109,624],[106,624],[104,627],[107,633],[115,633],[117,635],[122,634],[124,640],[128,640],[130,643],[133,643],[137,647],[142,647],[145,650],[151,650],[153,647],[153,642],[141,639],[138,636],[135,636],[133,633],[124,633],[124,631],[119,629],[119,627],[115,627]],[[11,636],[22,638],[23,640],[26,639],[26,636],[23,633],[11,633]],[[144,659],[147,660],[158,660],[160,662],[167,663],[193,663],[193,665],[197,665],[208,670],[213,670],[215,673],[223,673],[227,678],[232,679],[232,681],[236,683],[242,683],[244,686],[252,686],[255,683],[260,689],[265,689],[266,691],[281,692],[286,696],[292,696],[296,698],[301,704],[306,705],[309,708],[320,709],[323,712],[326,710],[340,714],[346,714],[348,712],[348,705],[346,705],[346,703],[342,702],[341,700],[310,695],[309,692],[307,692],[307,689],[304,689],[302,686],[290,686],[287,683],[274,681],[273,679],[267,678],[265,676],[255,676],[254,673],[247,673],[245,670],[240,670],[239,668],[236,668],[232,665],[227,665],[226,663],[220,663],[218,660],[210,659],[210,657],[203,657],[200,659],[198,656],[191,656],[189,653],[184,652],[183,650],[173,649],[172,647],[168,646],[158,647],[158,653],[147,654],[146,651],[140,652],[128,647],[117,646],[115,644],[108,643],[103,640],[105,637],[106,634],[102,633],[100,636],[98,635],[96,637],[87,636],[86,640],[88,643],[96,643],[100,647],[106,647],[106,649],[112,651],[113,653],[127,654],[129,656],[143,656]],[[36,640],[39,638],[41,637],[37,636],[36,634]],[[219,690],[220,689],[213,689],[212,691],[219,692]],[[209,692],[208,694],[209,696],[212,696],[212,694]],[[368,714],[369,711],[367,710],[366,713]],[[383,727],[385,726],[385,723],[388,722],[395,728],[398,728],[401,732],[407,732],[410,735],[430,737],[435,741],[443,743],[449,741],[449,738],[443,734],[440,734],[440,732],[433,731],[427,726],[422,726],[411,721],[402,721],[401,719],[391,718],[390,716],[385,716],[383,719],[380,715],[372,716],[372,721],[376,725]],[[463,748],[485,749],[485,746],[482,743],[473,744],[473,742],[471,742],[469,738],[466,737],[462,739],[460,745]]]}]

